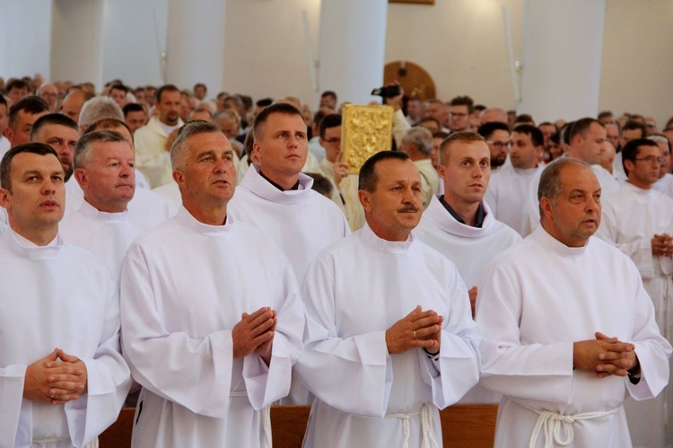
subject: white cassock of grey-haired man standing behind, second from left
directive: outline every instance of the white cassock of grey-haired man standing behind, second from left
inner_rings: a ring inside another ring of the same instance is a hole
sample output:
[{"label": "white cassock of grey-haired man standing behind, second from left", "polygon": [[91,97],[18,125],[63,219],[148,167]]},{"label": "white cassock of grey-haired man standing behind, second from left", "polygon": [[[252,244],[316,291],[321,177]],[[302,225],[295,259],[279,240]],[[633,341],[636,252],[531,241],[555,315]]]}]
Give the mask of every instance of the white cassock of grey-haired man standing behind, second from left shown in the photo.
[{"label": "white cassock of grey-haired man standing behind, second from left", "polygon": [[118,280],[121,262],[135,237],[147,226],[138,223],[128,211],[106,213],[82,201],[79,211],[67,215],[58,225],[58,233],[67,243],[89,250],[110,275]]}]

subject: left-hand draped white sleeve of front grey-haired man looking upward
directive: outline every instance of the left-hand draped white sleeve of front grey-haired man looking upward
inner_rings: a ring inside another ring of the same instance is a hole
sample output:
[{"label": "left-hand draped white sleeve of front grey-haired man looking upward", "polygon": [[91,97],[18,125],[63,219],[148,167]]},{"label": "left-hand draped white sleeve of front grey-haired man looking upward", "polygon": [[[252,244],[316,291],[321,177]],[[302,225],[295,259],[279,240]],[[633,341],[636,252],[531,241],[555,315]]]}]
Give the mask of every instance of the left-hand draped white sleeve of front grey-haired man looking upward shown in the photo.
[{"label": "left-hand draped white sleeve of front grey-haired man looking upward", "polygon": [[132,244],[121,269],[122,352],[135,381],[207,417],[226,417],[232,386],[232,331],[204,338],[163,326],[143,250]]}]

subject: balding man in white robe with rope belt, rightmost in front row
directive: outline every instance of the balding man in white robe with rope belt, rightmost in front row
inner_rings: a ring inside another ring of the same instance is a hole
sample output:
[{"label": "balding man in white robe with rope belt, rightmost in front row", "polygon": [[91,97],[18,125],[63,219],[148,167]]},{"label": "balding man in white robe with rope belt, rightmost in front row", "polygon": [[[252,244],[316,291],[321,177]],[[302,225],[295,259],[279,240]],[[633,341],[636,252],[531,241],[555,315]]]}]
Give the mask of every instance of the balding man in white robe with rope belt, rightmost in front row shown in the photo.
[{"label": "balding man in white robe with rope belt, rightmost in front row", "polygon": [[495,447],[631,446],[624,401],[655,397],[673,349],[633,261],[598,238],[601,188],[562,157],[539,181],[542,218],[486,268],[476,300],[480,384],[504,394]]}]

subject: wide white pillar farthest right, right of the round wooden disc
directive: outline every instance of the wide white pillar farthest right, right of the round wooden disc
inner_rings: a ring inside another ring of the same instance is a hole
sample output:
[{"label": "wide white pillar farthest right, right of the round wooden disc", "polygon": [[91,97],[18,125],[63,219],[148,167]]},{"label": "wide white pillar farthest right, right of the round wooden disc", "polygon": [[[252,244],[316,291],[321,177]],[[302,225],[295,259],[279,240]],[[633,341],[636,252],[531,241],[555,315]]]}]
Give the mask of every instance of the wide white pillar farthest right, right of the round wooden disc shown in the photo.
[{"label": "wide white pillar farthest right, right of the round wooden disc", "polygon": [[537,122],[596,117],[605,0],[526,1],[518,113]]}]

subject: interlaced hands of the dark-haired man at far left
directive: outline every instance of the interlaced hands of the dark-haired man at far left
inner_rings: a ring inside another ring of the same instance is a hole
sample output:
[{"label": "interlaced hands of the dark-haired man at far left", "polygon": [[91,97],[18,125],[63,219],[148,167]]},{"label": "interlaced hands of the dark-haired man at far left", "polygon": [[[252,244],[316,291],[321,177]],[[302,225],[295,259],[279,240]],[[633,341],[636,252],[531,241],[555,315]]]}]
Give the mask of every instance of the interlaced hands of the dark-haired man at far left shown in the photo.
[{"label": "interlaced hands of the dark-haired man at far left", "polygon": [[27,400],[61,405],[86,391],[86,365],[60,348],[26,367],[23,398]]}]

